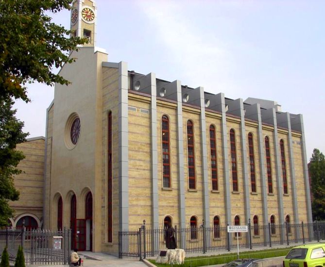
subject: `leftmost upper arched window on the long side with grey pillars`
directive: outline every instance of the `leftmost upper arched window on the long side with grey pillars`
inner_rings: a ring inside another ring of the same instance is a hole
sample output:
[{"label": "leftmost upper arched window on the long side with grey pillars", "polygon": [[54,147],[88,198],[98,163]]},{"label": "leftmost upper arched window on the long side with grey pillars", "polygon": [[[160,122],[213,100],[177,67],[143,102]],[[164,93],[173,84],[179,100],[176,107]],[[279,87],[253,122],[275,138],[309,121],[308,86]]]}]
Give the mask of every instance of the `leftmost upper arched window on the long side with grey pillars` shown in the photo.
[{"label": "leftmost upper arched window on the long side with grey pillars", "polygon": [[170,130],[166,115],[161,118],[163,187],[171,187]]}]

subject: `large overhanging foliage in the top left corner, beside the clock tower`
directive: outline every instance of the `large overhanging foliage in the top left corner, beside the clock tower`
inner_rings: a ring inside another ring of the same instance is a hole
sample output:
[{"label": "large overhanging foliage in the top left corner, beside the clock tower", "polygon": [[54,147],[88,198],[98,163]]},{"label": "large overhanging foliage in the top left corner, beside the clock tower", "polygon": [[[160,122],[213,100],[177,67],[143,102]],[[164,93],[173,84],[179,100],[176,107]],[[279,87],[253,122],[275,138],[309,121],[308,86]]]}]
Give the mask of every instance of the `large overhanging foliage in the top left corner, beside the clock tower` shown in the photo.
[{"label": "large overhanging foliage in the top left corner, beside the clock tower", "polygon": [[53,68],[72,63],[68,54],[84,44],[48,14],[70,9],[73,0],[0,1],[0,100],[29,101],[26,83],[67,84]]}]

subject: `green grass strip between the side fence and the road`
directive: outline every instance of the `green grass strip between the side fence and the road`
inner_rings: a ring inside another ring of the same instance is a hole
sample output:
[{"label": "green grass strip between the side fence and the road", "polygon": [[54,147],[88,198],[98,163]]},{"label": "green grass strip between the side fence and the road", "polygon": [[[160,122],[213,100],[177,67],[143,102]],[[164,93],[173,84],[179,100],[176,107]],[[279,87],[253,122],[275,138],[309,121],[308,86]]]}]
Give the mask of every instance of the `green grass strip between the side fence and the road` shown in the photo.
[{"label": "green grass strip between the side fence and the road", "polygon": [[[239,252],[239,258],[273,258],[279,256],[285,256],[291,250],[291,247],[285,249],[272,249],[272,250],[255,250],[255,251],[245,251]],[[188,257],[185,259],[184,264],[176,265],[178,267],[199,267],[206,265],[214,265],[214,264],[225,264],[230,261],[237,259],[237,253],[231,254],[221,254],[218,256],[200,256],[200,257]],[[170,266],[169,264],[160,264],[155,263],[155,260],[149,260],[155,266],[158,267],[166,267]]]}]

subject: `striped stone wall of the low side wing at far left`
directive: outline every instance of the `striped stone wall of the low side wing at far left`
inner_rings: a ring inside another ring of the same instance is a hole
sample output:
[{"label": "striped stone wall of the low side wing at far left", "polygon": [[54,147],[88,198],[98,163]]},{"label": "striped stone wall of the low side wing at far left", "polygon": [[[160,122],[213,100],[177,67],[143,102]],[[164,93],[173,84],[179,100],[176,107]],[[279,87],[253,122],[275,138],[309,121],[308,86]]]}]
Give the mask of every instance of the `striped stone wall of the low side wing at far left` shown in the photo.
[{"label": "striped stone wall of the low side wing at far left", "polygon": [[25,159],[17,166],[23,172],[14,177],[15,187],[20,192],[19,200],[9,201],[15,211],[13,226],[24,215],[34,217],[38,222],[43,219],[44,148],[44,137],[29,138],[27,142],[17,144],[17,150],[24,153]]}]

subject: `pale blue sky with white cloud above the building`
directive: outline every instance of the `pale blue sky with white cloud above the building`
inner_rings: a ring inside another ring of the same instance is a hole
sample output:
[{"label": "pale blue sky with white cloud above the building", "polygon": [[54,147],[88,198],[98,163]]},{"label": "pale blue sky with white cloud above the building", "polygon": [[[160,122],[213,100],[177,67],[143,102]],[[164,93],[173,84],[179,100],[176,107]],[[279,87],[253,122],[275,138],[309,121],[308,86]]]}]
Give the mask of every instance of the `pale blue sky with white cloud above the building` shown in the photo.
[{"label": "pale blue sky with white cloud above the building", "polygon": [[[324,0],[97,0],[96,46],[108,61],[231,99],[275,100],[303,114],[307,158],[325,153]],[[70,12],[51,15],[66,28]],[[45,136],[54,88],[17,101],[29,137]]]}]

